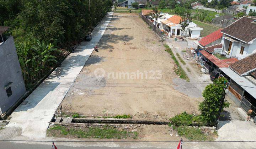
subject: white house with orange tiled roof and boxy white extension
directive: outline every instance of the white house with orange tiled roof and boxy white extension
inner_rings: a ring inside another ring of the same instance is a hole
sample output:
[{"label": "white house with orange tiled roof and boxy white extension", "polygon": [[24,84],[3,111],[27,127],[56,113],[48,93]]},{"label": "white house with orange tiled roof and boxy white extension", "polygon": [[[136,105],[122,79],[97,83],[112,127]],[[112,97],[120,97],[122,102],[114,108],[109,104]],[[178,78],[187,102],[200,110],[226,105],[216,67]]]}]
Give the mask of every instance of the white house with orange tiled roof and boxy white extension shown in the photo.
[{"label": "white house with orange tiled roof and boxy white extension", "polygon": [[180,16],[173,15],[169,19],[161,21],[162,26],[160,27],[160,29],[166,32],[169,32],[169,37],[170,36],[188,36],[191,38],[200,37],[200,32],[201,30],[203,30],[202,28],[198,27],[195,23],[190,22],[189,26],[186,27],[183,33],[180,26],[180,20],[182,20]]}]

